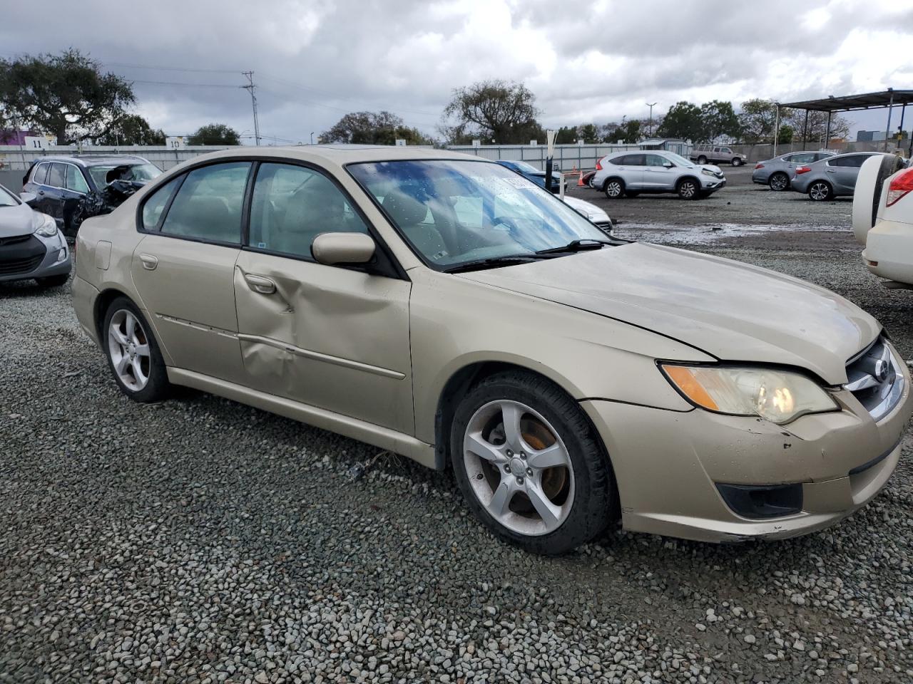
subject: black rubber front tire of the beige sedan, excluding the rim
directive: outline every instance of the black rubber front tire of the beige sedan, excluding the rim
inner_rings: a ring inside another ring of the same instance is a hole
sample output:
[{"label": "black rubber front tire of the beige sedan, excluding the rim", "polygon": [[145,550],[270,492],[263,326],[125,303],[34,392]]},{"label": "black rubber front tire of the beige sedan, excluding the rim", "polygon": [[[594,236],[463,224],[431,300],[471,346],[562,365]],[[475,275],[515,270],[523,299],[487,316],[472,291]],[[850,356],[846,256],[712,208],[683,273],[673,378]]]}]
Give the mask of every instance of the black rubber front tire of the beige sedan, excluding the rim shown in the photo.
[{"label": "black rubber front tire of the beige sedan, excluding the rim", "polygon": [[[463,439],[478,409],[497,400],[519,401],[540,413],[559,433],[570,455],[573,500],[564,522],[548,534],[519,534],[488,513],[479,502],[464,460]],[[509,371],[483,379],[467,392],[450,426],[451,465],[469,509],[499,538],[543,555],[564,554],[603,532],[617,515],[614,474],[602,440],[580,406],[550,380],[528,371]]]}]

